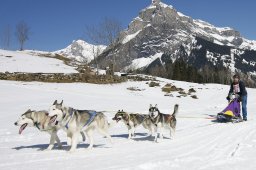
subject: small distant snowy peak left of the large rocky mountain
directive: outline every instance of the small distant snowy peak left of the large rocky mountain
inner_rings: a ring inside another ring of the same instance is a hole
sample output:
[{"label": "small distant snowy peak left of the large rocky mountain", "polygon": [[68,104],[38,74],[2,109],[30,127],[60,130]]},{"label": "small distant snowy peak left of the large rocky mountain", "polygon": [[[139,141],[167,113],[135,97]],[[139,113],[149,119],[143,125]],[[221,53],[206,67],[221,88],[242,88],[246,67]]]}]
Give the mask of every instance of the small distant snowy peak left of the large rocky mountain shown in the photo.
[{"label": "small distant snowy peak left of the large rocky mountain", "polygon": [[92,45],[83,40],[73,41],[68,47],[55,51],[53,53],[61,54],[64,57],[74,59],[79,62],[89,63],[94,59],[95,54],[102,53],[105,50],[106,46],[104,45]]}]

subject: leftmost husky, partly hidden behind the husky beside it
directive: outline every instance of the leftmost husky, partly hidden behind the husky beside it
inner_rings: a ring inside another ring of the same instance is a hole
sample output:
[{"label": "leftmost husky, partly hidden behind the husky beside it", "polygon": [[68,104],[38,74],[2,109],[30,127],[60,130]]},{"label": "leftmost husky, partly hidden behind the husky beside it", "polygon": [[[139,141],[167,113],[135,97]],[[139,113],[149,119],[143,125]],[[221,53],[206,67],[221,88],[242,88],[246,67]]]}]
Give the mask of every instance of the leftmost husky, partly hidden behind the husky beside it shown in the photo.
[{"label": "leftmost husky, partly hidden behind the husky beside it", "polygon": [[59,126],[50,125],[50,117],[48,117],[47,111],[31,111],[30,109],[20,116],[20,118],[14,123],[16,126],[20,126],[19,134],[28,127],[36,127],[40,131],[47,132],[51,135],[50,144],[47,150],[51,150],[55,141],[58,143],[58,147],[62,148],[60,139],[57,136]]}]

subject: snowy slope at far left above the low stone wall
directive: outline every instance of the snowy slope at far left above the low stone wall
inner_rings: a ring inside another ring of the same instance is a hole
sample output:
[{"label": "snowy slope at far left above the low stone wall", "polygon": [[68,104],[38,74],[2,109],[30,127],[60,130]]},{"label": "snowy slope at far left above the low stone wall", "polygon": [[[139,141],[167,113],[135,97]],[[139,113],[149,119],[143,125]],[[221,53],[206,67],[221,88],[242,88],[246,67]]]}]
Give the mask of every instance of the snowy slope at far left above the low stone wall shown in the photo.
[{"label": "snowy slope at far left above the low stone wall", "polygon": [[76,73],[63,61],[27,54],[28,52],[6,51],[0,49],[0,72],[30,73]]}]

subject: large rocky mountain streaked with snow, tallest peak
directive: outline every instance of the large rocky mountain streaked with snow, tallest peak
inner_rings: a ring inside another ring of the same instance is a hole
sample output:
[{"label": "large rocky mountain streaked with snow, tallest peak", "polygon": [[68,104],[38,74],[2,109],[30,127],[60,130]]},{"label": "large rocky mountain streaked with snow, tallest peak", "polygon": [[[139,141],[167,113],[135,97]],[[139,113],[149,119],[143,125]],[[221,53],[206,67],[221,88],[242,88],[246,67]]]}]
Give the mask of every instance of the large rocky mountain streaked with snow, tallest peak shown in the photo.
[{"label": "large rocky mountain streaked with snow, tallest peak", "polygon": [[106,67],[112,61],[120,70],[135,70],[156,60],[164,65],[162,55],[167,54],[168,60],[183,58],[197,69],[209,65],[255,75],[255,50],[256,41],[232,28],[215,27],[153,0],[102,53],[99,63]]}]

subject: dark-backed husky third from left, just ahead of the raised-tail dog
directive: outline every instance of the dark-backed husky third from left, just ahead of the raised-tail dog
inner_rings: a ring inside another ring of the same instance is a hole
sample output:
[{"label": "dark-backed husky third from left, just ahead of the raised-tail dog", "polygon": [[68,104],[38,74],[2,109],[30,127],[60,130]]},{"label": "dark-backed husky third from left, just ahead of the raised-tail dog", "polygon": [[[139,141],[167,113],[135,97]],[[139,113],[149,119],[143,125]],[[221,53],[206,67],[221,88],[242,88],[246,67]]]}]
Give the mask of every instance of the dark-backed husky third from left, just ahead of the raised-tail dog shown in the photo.
[{"label": "dark-backed husky third from left, just ahead of the raised-tail dog", "polygon": [[149,134],[152,135],[154,131],[154,124],[152,124],[149,115],[146,114],[138,114],[138,113],[127,113],[123,110],[119,110],[115,117],[112,119],[115,120],[117,123],[122,120],[124,124],[128,128],[128,139],[131,139],[135,136],[135,128],[139,125],[142,125],[145,129],[149,130]]}]

